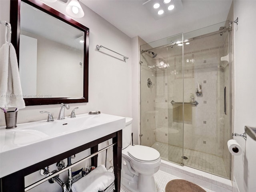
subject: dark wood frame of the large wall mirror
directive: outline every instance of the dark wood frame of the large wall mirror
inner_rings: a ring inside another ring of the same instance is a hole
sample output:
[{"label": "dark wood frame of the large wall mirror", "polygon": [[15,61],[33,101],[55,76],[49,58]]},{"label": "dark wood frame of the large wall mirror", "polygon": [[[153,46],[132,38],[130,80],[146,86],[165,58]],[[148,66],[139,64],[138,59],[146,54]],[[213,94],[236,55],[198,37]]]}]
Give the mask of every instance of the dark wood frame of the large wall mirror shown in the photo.
[{"label": "dark wood frame of the large wall mirror", "polygon": [[71,26],[82,30],[85,35],[84,40],[84,90],[83,97],[65,97],[65,98],[24,98],[26,106],[32,105],[48,105],[60,103],[83,103],[88,102],[88,77],[89,77],[89,28],[72,20],[70,17],[54,10],[53,8],[43,4],[39,0],[11,0],[10,1],[10,24],[12,26],[12,44],[17,53],[19,64],[19,48],[20,48],[20,2],[23,1],[31,6],[55,17]]}]

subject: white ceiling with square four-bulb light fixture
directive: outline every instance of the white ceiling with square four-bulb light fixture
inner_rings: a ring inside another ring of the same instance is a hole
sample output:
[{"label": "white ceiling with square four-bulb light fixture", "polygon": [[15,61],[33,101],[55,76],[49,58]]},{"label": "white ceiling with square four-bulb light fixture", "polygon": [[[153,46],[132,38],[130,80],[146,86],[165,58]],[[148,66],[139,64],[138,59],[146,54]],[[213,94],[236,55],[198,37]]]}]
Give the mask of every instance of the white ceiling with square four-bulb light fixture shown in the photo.
[{"label": "white ceiling with square four-bulb light fixture", "polygon": [[180,1],[183,8],[155,19],[146,6],[142,5],[147,0],[79,0],[130,38],[140,36],[146,42],[223,22],[232,3],[232,0]]}]

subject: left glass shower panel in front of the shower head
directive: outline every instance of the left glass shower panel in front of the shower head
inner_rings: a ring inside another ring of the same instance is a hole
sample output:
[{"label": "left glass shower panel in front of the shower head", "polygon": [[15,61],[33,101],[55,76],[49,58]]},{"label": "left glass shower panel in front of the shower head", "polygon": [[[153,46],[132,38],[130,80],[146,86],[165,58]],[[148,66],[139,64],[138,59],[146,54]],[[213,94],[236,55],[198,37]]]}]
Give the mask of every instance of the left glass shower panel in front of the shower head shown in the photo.
[{"label": "left glass shower panel in front of the shower head", "polygon": [[[140,48],[140,139],[161,159],[183,164],[183,50],[178,41],[182,34]],[[181,102],[174,112],[172,100]]]}]

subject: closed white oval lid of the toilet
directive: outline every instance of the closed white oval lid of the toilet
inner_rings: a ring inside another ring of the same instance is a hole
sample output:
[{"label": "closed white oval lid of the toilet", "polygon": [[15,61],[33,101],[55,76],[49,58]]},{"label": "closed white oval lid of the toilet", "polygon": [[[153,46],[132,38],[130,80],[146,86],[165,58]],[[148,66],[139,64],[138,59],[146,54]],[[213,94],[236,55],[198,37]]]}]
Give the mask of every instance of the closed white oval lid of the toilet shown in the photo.
[{"label": "closed white oval lid of the toilet", "polygon": [[128,150],[129,156],[140,162],[155,161],[160,157],[160,153],[154,148],[135,145]]}]

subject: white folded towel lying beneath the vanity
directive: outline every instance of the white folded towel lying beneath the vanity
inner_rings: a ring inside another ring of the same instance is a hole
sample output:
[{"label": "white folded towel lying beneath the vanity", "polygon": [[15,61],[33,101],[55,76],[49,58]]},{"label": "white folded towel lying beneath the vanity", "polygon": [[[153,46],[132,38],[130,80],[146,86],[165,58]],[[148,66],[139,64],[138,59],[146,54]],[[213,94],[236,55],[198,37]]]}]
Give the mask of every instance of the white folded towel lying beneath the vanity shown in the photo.
[{"label": "white folded towel lying beneath the vanity", "polygon": [[114,173],[108,172],[104,165],[72,184],[72,192],[98,192],[105,190],[114,182]]}]

